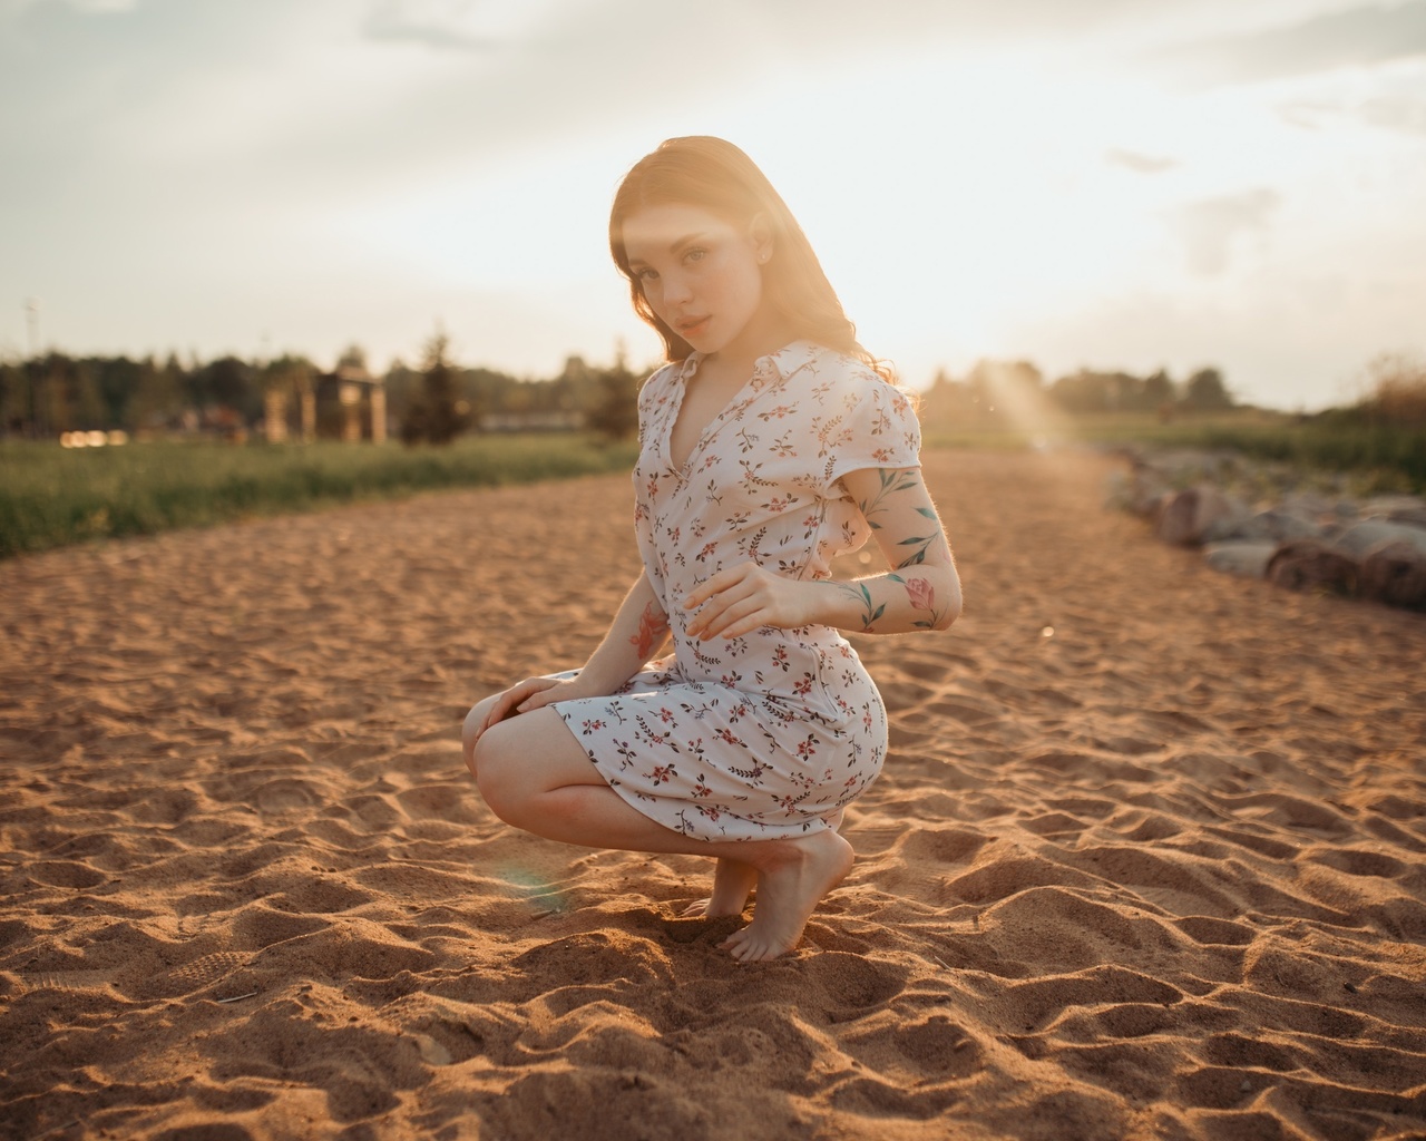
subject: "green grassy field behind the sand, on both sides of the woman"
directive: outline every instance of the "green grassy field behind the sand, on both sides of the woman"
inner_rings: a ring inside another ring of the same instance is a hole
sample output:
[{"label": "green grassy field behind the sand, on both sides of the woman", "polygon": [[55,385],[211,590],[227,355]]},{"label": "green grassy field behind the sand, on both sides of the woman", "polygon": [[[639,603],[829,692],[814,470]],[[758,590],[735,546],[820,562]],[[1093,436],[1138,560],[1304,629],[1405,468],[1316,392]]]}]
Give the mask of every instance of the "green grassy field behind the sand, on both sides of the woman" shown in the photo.
[{"label": "green grassy field behind the sand, on both sides of the woman", "polygon": [[[1360,492],[1426,492],[1426,429],[1279,412],[1182,416],[1058,416],[1051,426],[944,428],[931,448],[1024,448],[1091,442],[1231,449],[1305,471],[1352,474]],[[466,436],[449,448],[312,444],[130,444],[66,451],[54,442],[0,444],[0,558],[88,539],[153,535],[434,488],[489,486],[627,471],[632,442],[592,435]]]}]

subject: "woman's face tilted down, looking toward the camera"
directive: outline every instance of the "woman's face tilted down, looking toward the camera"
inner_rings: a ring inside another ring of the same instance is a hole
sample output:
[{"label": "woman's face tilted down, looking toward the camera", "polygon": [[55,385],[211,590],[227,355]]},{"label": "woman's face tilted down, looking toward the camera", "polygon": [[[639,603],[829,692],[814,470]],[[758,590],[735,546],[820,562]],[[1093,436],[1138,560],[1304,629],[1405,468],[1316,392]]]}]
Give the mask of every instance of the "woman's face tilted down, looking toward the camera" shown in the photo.
[{"label": "woman's face tilted down, looking toward the camera", "polygon": [[655,314],[704,355],[756,335],[761,265],[771,255],[759,227],[739,227],[694,205],[645,207],[625,218],[629,270]]}]

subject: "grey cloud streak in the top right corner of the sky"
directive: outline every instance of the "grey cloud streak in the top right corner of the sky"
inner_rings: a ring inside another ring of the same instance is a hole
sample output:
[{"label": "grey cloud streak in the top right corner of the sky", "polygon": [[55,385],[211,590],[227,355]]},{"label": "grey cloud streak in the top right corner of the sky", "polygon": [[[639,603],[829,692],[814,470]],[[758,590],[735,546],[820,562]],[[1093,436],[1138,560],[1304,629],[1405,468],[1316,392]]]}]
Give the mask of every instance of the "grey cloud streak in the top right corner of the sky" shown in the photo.
[{"label": "grey cloud streak in the top right corner of the sky", "polygon": [[1358,7],[1245,36],[1164,48],[1154,61],[1196,86],[1258,83],[1426,56],[1426,0]]}]

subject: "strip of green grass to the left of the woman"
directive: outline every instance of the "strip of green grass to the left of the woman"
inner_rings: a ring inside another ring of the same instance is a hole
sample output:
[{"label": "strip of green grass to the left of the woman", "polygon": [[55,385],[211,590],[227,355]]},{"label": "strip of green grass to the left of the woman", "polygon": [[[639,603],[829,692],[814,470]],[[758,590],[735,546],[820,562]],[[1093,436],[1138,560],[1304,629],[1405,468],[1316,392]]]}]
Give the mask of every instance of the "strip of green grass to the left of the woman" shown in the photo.
[{"label": "strip of green grass to the left of the woman", "polygon": [[0,444],[0,558],[120,535],[153,535],[258,515],[629,471],[633,444],[590,435],[466,436],[399,444],[128,444],[66,451]]}]

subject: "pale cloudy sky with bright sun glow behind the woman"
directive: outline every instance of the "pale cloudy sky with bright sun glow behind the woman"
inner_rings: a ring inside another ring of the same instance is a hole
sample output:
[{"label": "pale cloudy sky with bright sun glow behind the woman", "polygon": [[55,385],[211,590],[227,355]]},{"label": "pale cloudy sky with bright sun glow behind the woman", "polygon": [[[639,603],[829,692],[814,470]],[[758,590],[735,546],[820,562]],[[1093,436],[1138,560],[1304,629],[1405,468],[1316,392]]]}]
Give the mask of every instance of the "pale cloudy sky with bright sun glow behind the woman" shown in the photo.
[{"label": "pale cloudy sky with bright sun glow behind the woman", "polygon": [[680,134],[913,387],[1426,354],[1426,0],[0,0],[0,357],[652,364],[607,210]]}]

